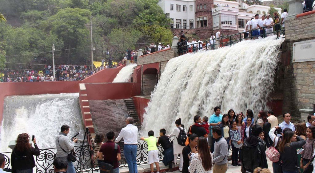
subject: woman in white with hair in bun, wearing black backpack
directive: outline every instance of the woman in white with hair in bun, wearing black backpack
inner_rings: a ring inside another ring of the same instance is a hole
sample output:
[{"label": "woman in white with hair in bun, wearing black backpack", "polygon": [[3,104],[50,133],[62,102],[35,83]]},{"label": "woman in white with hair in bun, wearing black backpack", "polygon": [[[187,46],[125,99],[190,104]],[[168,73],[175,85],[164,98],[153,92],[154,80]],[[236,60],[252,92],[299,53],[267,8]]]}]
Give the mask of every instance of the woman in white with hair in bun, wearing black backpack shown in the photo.
[{"label": "woman in white with hair in bun, wearing black backpack", "polygon": [[179,154],[180,155],[179,170],[182,171],[183,170],[183,163],[184,163],[182,151],[183,151],[183,148],[185,146],[179,145],[177,142],[177,138],[179,136],[180,129],[183,131],[185,131],[185,129],[181,125],[181,119],[180,118],[175,121],[175,125],[176,125],[176,128],[174,128],[173,132],[169,135],[169,138],[175,137],[175,138],[173,138],[174,139],[173,140],[174,164],[176,165],[177,155]]}]

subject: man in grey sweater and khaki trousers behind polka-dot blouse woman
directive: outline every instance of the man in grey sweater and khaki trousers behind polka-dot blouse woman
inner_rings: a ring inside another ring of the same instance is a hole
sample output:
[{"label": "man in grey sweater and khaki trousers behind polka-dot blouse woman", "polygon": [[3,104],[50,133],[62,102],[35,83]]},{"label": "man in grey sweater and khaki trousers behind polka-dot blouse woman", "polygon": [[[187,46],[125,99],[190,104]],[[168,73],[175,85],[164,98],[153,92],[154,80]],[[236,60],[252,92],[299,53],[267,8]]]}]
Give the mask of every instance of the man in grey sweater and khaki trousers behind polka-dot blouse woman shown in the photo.
[{"label": "man in grey sweater and khaki trousers behind polka-dot blouse woman", "polygon": [[227,142],[222,137],[221,128],[215,126],[212,128],[212,135],[215,139],[214,153],[213,153],[213,173],[225,173],[227,171]]}]

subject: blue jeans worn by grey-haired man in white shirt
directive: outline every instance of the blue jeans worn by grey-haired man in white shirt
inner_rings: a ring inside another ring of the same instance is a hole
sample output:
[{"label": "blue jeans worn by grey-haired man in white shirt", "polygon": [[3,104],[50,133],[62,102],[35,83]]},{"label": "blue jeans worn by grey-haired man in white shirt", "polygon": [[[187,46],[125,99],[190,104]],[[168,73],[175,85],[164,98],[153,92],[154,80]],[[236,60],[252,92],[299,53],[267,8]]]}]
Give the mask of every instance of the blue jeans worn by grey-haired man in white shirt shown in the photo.
[{"label": "blue jeans worn by grey-haired man in white shirt", "polygon": [[138,173],[137,169],[137,145],[128,145],[123,146],[123,154],[125,155],[129,173]]}]

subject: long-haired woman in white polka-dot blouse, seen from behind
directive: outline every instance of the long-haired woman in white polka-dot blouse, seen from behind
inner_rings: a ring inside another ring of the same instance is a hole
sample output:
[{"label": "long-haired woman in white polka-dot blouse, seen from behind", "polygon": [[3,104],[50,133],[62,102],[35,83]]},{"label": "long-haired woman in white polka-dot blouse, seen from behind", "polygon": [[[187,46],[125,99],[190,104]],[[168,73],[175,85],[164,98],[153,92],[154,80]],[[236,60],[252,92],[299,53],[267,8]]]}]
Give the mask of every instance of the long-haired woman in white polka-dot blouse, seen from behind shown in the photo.
[{"label": "long-haired woman in white polka-dot blouse, seen from behind", "polygon": [[212,156],[206,138],[198,138],[197,149],[196,153],[191,155],[192,158],[188,167],[189,172],[211,173]]}]

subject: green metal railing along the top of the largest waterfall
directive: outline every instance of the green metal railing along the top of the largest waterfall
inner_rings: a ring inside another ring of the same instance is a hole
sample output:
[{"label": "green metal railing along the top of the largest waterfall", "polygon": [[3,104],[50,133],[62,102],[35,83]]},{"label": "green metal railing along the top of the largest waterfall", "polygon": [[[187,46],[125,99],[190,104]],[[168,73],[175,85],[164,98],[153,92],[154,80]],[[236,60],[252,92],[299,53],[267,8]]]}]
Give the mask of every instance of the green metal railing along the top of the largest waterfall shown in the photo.
[{"label": "green metal railing along the top of the largest waterfall", "polygon": [[[276,25],[280,25],[281,24],[275,24],[274,26]],[[265,29],[266,27],[262,27],[263,29]],[[238,41],[242,41],[242,40],[248,40],[248,39],[251,39],[253,40],[253,38],[258,38],[258,37],[266,37],[266,35],[270,35],[270,34],[274,34],[276,33],[277,34],[277,39],[279,38],[278,35],[280,33],[283,33],[284,30],[276,30],[276,31],[273,31],[273,32],[270,32],[270,33],[267,33],[267,34],[261,34],[261,35],[255,35],[255,36],[252,36],[252,31],[255,31],[257,30],[256,29],[253,29],[253,30],[248,30],[248,31],[245,31],[245,32],[240,32],[240,33],[237,33],[237,34],[232,34],[232,35],[227,35],[227,36],[223,36],[223,37],[220,37],[220,38],[214,38],[214,39],[210,39],[210,40],[206,40],[206,41],[202,41],[202,42],[205,42],[206,43],[206,46],[202,46],[202,47],[199,47],[199,43],[194,43],[194,44],[197,44],[197,48],[194,50],[193,49],[193,52],[195,51],[198,51],[199,49],[203,49],[203,48],[206,48],[208,49],[208,47],[210,47],[210,49],[213,47],[213,49],[215,49],[215,45],[221,45],[221,47],[223,46],[232,46],[234,43],[238,42]],[[258,29],[259,30],[259,29]],[[249,32],[249,36],[246,37],[246,38],[242,38],[242,35],[244,33],[248,33]],[[232,38],[238,38],[238,39],[235,39],[235,40],[232,40]],[[229,41],[226,41],[226,42],[223,42],[223,39],[229,39]],[[220,43],[214,43],[215,41],[217,40],[220,40]],[[208,41],[212,41],[214,44],[210,44],[210,46],[207,46],[207,42]],[[179,53],[184,53],[184,52],[188,52],[188,46],[191,46],[193,48],[193,45],[194,44],[189,44],[189,45],[186,45],[187,49],[186,50],[181,50],[181,51],[178,51]],[[184,47],[184,46],[182,46]]]}]

